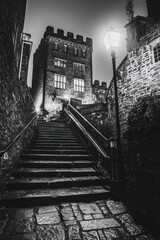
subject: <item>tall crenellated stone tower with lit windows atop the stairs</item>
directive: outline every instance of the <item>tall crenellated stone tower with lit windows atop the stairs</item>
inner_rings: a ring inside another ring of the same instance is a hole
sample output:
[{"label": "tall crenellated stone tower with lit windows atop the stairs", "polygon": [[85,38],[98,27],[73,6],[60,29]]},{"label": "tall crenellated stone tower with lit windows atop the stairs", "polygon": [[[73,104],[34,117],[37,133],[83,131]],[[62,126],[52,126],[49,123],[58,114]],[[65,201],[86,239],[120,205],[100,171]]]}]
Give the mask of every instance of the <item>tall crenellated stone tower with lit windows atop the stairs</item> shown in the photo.
[{"label": "tall crenellated stone tower with lit windows atop the stairs", "polygon": [[[92,100],[92,39],[48,26],[34,54],[32,95],[36,107],[50,111],[67,99],[79,104]],[[55,102],[54,102],[55,103]]]}]

